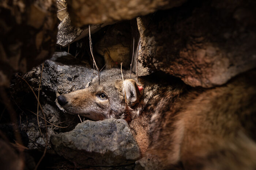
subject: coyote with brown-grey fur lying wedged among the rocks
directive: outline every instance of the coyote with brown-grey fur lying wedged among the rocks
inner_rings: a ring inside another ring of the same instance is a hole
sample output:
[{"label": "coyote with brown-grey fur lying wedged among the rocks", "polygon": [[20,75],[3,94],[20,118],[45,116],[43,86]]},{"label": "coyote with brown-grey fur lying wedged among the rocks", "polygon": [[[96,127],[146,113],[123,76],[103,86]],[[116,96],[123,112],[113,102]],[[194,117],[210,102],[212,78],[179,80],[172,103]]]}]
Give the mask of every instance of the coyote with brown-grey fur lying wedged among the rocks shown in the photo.
[{"label": "coyote with brown-grey fur lying wedged among the rocks", "polygon": [[256,169],[255,70],[210,89],[123,74],[124,81],[120,69],[102,71],[100,84],[96,77],[57,101],[92,120],[126,119],[146,158],[140,163],[159,162],[152,169]]}]

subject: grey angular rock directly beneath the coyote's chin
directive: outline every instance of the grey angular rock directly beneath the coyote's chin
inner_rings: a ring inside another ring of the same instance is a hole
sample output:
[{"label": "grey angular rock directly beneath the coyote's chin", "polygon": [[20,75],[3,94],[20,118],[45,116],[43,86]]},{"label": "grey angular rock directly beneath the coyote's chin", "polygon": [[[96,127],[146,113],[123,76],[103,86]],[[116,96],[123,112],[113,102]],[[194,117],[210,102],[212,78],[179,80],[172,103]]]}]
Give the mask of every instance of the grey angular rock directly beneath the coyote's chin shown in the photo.
[{"label": "grey angular rock directly beneath the coyote's chin", "polygon": [[140,158],[124,119],[86,120],[70,132],[53,135],[51,142],[59,155],[78,165],[129,165]]}]

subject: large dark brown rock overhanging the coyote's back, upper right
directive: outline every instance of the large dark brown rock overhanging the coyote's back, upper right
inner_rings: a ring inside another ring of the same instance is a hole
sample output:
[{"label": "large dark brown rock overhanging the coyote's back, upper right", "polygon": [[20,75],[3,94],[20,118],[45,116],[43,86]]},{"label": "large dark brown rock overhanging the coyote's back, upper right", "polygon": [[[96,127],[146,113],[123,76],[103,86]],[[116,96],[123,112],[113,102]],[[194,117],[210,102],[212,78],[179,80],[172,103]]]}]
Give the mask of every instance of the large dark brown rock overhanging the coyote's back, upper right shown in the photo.
[{"label": "large dark brown rock overhanging the coyote's back, upper right", "polygon": [[256,1],[189,1],[138,18],[143,66],[213,87],[256,66]]}]

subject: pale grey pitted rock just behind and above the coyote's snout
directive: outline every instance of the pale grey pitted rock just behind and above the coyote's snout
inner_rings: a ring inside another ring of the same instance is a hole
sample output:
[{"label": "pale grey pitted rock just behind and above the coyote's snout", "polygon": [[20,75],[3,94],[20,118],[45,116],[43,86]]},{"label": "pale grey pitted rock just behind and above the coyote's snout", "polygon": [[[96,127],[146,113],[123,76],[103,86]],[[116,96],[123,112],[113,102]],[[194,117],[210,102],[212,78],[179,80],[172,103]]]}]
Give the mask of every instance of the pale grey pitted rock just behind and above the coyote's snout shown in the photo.
[{"label": "pale grey pitted rock just behind and above the coyote's snout", "polygon": [[67,52],[55,52],[44,63],[42,90],[46,95],[53,93],[51,101],[55,101],[58,94],[83,89],[96,72],[87,62],[82,62]]}]

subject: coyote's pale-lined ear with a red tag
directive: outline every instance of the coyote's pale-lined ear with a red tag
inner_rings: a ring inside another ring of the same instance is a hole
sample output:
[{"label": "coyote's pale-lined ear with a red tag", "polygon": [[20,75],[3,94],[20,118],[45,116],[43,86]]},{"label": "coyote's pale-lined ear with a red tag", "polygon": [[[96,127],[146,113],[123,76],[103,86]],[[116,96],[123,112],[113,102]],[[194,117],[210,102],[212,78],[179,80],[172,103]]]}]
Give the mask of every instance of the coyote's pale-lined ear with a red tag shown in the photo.
[{"label": "coyote's pale-lined ear with a red tag", "polygon": [[133,105],[139,102],[142,86],[138,86],[135,80],[126,79],[123,82],[123,94],[126,93],[127,104]]}]

